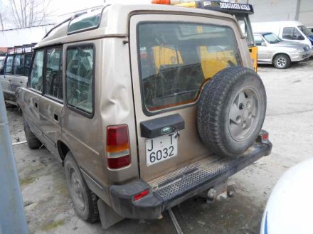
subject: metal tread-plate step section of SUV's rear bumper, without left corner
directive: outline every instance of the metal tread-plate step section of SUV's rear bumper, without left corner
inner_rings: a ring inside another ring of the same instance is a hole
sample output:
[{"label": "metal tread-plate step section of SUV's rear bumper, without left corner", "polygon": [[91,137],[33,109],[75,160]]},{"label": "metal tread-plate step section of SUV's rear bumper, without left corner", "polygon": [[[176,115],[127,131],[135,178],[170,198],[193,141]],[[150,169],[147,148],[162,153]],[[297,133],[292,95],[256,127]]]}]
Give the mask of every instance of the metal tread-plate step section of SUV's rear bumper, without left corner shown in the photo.
[{"label": "metal tread-plate step section of SUV's rear bumper, without left corner", "polygon": [[[149,181],[149,185],[152,186],[155,196],[169,204],[175,198],[182,198],[184,195],[187,197],[194,196],[218,184],[218,182],[222,182],[257,161],[260,157],[269,154],[270,148],[270,145],[258,143],[245,151],[242,156],[236,158],[208,156],[177,171]],[[171,203],[170,206],[174,206],[174,203]]]}]

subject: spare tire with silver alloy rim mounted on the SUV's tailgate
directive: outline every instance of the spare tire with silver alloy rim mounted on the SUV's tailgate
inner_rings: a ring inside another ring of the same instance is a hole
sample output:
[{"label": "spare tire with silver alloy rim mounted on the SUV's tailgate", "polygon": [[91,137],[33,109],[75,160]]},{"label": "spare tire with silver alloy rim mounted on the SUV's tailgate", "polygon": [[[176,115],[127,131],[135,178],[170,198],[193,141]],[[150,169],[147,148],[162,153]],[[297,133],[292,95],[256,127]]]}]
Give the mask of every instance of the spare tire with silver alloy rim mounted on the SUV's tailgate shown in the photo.
[{"label": "spare tire with silver alloy rim mounted on the SUV's tailgate", "polygon": [[254,70],[231,67],[206,83],[198,102],[198,132],[203,143],[221,156],[238,156],[261,130],[266,92]]}]

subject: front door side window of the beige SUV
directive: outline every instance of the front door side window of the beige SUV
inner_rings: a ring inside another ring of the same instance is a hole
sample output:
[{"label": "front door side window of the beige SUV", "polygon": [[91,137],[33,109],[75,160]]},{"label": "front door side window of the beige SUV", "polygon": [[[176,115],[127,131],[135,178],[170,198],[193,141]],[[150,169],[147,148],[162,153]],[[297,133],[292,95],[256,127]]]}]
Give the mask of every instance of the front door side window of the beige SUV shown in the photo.
[{"label": "front door side window of the beige SUV", "polygon": [[31,77],[29,86],[35,90],[43,90],[43,55],[44,50],[38,50],[33,59],[33,67],[31,68]]}]

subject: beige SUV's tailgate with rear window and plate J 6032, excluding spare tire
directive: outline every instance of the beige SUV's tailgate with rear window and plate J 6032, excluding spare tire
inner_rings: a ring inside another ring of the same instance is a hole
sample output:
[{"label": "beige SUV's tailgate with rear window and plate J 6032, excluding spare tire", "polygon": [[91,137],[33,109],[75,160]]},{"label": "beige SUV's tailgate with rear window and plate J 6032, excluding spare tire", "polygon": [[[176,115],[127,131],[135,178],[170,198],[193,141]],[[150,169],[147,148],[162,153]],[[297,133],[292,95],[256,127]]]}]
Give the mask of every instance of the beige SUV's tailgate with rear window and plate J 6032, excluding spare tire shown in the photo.
[{"label": "beige SUV's tailgate with rear window and plate J 6032, excluding spare tire", "polygon": [[[242,64],[234,27],[235,21],[197,16],[130,19],[139,170],[145,181],[211,154],[198,136],[197,100],[215,73]],[[212,64],[223,67],[212,66],[209,73]]]}]

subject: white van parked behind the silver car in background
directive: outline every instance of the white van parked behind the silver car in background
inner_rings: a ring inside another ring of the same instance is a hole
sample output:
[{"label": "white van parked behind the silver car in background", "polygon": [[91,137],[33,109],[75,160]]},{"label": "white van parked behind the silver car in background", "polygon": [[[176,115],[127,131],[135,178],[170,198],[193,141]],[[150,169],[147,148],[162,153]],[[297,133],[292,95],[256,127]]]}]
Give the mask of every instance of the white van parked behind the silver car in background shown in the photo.
[{"label": "white van parked behind the silver car in background", "polygon": [[273,21],[251,24],[254,32],[272,32],[284,41],[297,41],[312,48],[313,33],[299,21]]}]

